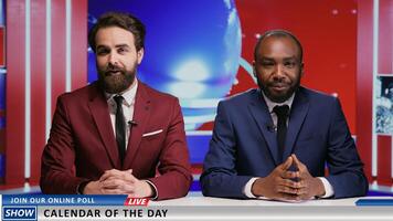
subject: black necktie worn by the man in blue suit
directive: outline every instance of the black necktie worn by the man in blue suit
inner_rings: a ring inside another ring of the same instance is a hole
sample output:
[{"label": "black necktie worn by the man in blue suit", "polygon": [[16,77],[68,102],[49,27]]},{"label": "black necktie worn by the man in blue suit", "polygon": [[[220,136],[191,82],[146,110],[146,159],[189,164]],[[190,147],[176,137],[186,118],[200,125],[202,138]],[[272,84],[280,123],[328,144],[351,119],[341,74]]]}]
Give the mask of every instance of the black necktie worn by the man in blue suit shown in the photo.
[{"label": "black necktie worn by the man in blue suit", "polygon": [[278,144],[278,159],[283,161],[285,149],[285,138],[287,135],[287,117],[289,112],[288,105],[275,106],[273,112],[277,115],[277,144]]}]

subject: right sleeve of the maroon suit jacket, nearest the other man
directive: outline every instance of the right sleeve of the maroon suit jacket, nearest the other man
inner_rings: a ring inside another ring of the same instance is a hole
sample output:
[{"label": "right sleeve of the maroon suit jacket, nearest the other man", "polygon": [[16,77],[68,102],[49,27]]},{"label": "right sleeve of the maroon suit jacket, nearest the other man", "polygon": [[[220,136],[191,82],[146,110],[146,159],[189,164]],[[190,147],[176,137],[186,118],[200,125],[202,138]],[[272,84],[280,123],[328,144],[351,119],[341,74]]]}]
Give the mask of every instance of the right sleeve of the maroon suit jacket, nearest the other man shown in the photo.
[{"label": "right sleeve of the maroon suit jacket, nearest the other man", "polygon": [[184,197],[192,182],[184,122],[178,99],[173,99],[169,116],[170,123],[159,157],[160,176],[149,179],[157,188],[158,200]]}]

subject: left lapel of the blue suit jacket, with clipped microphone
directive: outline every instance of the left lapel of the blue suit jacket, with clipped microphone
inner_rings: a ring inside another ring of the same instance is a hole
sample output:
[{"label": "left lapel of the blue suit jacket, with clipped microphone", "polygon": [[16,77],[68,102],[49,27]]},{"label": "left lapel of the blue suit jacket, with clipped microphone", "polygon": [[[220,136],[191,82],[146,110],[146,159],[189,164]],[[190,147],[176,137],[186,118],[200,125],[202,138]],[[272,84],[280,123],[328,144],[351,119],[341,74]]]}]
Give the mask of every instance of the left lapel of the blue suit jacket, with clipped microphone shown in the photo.
[{"label": "left lapel of the blue suit jacket, with clipped microphone", "polygon": [[273,128],[274,124],[265,99],[263,98],[259,90],[252,94],[252,102],[249,103],[248,108],[256,124],[258,125],[259,130],[265,137],[267,147],[270,150],[274,161],[276,165],[279,165],[280,162],[278,161],[277,138]]}]

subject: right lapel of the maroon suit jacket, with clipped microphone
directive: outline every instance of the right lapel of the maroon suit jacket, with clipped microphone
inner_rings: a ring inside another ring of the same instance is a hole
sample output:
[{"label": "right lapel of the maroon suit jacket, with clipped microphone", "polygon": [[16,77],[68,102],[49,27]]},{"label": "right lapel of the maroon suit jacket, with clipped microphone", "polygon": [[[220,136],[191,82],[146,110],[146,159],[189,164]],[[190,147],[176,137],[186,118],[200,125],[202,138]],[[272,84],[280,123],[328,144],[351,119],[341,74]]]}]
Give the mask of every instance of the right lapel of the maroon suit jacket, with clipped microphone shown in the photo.
[{"label": "right lapel of the maroon suit jacket, with clipped microphone", "polygon": [[138,90],[135,99],[132,120],[137,123],[130,130],[124,168],[131,168],[134,158],[140,146],[140,140],[150,116],[150,98],[146,91],[146,85],[138,82]]}]

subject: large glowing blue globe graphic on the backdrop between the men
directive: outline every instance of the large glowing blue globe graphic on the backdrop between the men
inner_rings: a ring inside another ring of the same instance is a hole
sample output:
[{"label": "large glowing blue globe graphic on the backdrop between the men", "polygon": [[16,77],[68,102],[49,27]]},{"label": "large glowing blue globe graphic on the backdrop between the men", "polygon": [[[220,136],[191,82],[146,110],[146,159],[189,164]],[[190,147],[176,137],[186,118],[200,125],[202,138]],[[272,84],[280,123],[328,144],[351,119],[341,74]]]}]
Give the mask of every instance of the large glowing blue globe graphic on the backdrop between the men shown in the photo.
[{"label": "large glowing blue globe graphic on the backdrop between the men", "polygon": [[[137,76],[179,97],[187,130],[214,119],[241,60],[242,33],[233,0],[98,0],[95,6],[89,8],[89,27],[106,11],[130,12],[145,23],[145,57]],[[96,69],[91,50],[88,62],[92,82]]]}]

